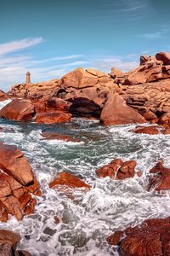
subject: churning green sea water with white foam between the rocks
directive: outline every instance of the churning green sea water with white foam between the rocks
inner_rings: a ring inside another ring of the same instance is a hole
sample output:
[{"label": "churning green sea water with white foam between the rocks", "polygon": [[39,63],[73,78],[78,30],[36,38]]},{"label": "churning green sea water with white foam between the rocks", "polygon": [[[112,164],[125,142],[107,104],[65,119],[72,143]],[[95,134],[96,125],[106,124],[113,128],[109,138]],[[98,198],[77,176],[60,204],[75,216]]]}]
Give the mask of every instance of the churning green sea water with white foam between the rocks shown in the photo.
[{"label": "churning green sea water with white foam between the rocks", "polygon": [[[3,106],[3,103],[0,105]],[[1,106],[0,106],[1,107]],[[145,218],[167,217],[170,197],[147,191],[149,170],[160,159],[170,167],[170,136],[128,132],[134,125],[102,127],[98,121],[73,119],[65,125],[37,125],[0,119],[0,140],[14,144],[29,160],[42,187],[34,214],[22,221],[10,218],[0,228],[22,237],[20,248],[33,256],[117,255],[105,238],[111,232],[141,223]],[[42,131],[78,137],[81,143],[42,139]],[[137,160],[142,177],[124,181],[99,179],[95,170],[115,158]],[[74,200],[48,188],[61,171],[71,172],[92,186],[86,194],[74,191]],[[55,223],[54,217],[61,219]]]}]

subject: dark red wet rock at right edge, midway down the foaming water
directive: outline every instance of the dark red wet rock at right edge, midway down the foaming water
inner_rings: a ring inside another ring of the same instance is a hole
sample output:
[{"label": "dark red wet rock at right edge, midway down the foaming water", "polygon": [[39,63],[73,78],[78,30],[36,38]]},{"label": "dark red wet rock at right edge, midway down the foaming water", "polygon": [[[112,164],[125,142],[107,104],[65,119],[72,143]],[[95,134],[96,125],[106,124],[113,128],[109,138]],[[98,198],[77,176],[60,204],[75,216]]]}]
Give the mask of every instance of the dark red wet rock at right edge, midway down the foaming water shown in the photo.
[{"label": "dark red wet rock at right edge, midway down the foaming water", "polygon": [[150,173],[154,176],[150,179],[150,189],[154,190],[167,190],[170,189],[170,169],[163,166],[162,162],[158,162]]}]

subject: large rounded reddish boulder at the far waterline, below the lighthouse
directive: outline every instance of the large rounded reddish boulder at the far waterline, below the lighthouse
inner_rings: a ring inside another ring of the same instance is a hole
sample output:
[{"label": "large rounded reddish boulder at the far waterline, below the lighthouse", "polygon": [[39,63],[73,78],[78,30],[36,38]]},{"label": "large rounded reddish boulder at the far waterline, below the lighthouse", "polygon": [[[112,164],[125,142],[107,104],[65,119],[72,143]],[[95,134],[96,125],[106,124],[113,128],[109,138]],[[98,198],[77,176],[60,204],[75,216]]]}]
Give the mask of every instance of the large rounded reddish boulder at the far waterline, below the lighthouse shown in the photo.
[{"label": "large rounded reddish boulder at the far waterline, below the lighthouse", "polygon": [[35,108],[30,100],[16,99],[0,110],[0,117],[20,121],[32,119],[34,113]]}]

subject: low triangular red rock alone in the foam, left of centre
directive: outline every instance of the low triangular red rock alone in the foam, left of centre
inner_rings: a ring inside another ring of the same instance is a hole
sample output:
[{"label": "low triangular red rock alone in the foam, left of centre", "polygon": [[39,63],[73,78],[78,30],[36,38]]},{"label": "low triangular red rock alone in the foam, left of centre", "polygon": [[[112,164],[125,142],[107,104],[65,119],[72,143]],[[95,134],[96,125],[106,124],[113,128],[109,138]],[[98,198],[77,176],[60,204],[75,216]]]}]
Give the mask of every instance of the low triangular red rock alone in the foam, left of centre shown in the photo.
[{"label": "low triangular red rock alone in the foam, left of centre", "polygon": [[55,188],[56,186],[67,186],[71,189],[82,188],[82,189],[91,189],[91,186],[87,183],[84,183],[80,178],[68,173],[61,172],[57,177],[54,178],[54,181],[49,183],[49,188]]}]

